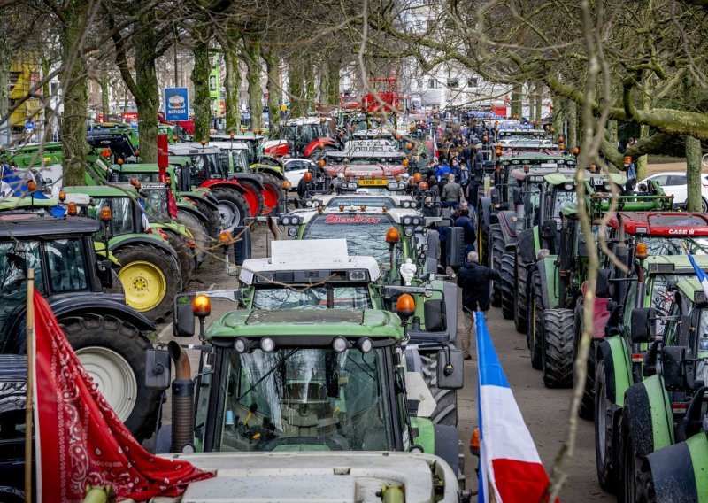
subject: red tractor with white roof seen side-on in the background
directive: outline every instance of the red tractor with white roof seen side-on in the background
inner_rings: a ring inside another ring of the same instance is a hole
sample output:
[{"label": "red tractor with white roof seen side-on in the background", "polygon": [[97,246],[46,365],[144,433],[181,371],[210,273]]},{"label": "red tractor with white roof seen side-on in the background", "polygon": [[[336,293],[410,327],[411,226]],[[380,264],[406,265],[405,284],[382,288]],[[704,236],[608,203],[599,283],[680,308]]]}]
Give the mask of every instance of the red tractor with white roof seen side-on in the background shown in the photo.
[{"label": "red tractor with white roof seen side-on in the background", "polygon": [[291,119],[273,129],[263,143],[263,153],[275,158],[289,155],[293,158],[319,160],[328,151],[341,148],[335,120],[331,117],[301,117]]}]

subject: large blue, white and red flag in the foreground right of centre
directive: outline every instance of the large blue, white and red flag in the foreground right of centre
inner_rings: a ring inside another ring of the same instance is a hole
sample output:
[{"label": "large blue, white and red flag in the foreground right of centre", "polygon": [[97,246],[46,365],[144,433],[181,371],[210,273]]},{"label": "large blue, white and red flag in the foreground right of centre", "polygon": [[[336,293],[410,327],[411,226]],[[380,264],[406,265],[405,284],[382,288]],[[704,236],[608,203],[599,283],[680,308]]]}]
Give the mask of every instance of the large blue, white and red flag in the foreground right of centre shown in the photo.
[{"label": "large blue, white and red flag in the foreground right of centre", "polygon": [[478,311],[475,317],[481,461],[478,501],[547,501],[548,475],[494,351],[484,314]]}]

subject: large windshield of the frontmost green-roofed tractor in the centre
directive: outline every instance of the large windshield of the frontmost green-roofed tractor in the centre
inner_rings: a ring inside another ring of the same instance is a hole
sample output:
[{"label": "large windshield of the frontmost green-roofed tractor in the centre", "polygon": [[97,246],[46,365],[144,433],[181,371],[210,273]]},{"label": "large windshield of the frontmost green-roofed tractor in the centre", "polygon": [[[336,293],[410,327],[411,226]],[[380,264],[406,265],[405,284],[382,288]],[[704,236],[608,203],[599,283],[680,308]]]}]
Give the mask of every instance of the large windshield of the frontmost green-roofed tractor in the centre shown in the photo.
[{"label": "large windshield of the frontmost green-roofed tractor in the centre", "polygon": [[395,448],[384,348],[227,350],[225,356],[215,404],[219,450]]}]

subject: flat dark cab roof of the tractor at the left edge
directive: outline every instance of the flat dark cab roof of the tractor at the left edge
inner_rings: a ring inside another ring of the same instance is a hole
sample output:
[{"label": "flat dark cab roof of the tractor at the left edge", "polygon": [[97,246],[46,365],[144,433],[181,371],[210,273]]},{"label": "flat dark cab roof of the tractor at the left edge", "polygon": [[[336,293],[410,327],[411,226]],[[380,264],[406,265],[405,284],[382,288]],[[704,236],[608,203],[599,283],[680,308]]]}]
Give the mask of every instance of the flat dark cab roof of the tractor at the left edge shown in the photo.
[{"label": "flat dark cab roof of the tractor at the left edge", "polygon": [[94,234],[101,224],[81,217],[54,218],[41,213],[0,214],[0,239],[12,237],[55,237],[66,234]]}]

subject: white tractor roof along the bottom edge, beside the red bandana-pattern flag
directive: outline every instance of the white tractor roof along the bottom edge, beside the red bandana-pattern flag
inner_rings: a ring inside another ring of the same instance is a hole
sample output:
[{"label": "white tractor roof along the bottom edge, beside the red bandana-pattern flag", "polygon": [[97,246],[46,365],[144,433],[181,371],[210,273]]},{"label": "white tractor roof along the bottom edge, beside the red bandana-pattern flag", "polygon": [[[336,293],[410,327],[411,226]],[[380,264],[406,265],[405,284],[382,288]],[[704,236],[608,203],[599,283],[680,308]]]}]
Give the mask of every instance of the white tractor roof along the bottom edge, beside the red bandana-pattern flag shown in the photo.
[{"label": "white tractor roof along the bottom edge, beside the red bandana-pattern flag", "polygon": [[[459,501],[458,481],[440,458],[419,453],[204,453],[173,454],[215,477],[189,484],[180,498],[152,501],[381,502]],[[435,478],[443,494],[435,494]],[[442,498],[440,498],[442,496]],[[385,499],[384,500],[388,500]]]}]

